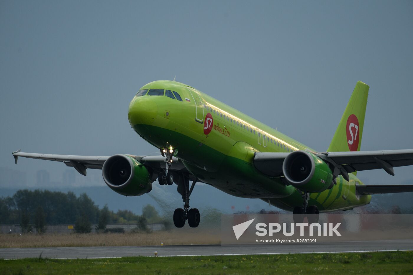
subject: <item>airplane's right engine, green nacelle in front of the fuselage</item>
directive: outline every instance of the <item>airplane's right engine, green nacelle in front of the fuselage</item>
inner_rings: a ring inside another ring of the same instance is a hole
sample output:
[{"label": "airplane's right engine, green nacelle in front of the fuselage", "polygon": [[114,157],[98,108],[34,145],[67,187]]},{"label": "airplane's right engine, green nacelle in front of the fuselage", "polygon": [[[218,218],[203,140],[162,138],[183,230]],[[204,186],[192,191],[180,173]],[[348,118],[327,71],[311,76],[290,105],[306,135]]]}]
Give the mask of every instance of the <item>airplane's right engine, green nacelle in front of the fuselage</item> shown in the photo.
[{"label": "airplane's right engine, green nacelle in front of the fuselage", "polygon": [[297,189],[318,193],[331,186],[333,175],[318,156],[306,151],[290,153],[282,163],[285,179]]}]

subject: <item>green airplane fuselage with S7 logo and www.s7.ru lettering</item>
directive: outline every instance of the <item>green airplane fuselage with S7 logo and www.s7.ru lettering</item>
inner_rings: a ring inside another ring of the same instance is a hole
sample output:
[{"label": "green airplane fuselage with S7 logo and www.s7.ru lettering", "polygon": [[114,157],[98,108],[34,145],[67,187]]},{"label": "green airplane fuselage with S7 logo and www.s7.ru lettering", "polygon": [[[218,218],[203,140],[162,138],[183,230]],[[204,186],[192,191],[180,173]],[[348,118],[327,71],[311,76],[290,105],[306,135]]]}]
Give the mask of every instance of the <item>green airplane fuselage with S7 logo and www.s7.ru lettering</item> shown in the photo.
[{"label": "green airplane fuselage with S7 logo and www.s7.ru lettering", "polygon": [[[152,95],[145,92],[152,89]],[[154,81],[140,91],[128,111],[135,132],[157,148],[176,149],[175,156],[204,183],[285,210],[301,205],[299,190],[255,168],[254,153],[313,149],[185,84]],[[340,175],[331,189],[311,193],[309,205],[327,212],[368,204],[370,195],[356,195],[361,181],[349,177]]]}]

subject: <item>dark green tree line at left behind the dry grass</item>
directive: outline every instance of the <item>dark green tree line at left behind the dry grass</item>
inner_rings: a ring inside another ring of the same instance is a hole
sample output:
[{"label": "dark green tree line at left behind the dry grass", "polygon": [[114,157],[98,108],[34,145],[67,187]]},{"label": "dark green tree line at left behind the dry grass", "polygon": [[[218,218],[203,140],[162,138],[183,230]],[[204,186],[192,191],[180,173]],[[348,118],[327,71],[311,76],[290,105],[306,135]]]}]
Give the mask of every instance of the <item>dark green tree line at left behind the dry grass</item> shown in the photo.
[{"label": "dark green tree line at left behind the dry grass", "polygon": [[73,192],[48,190],[18,190],[12,197],[0,197],[0,224],[20,224],[23,232],[45,231],[47,225],[74,224],[76,232],[90,232],[92,224],[96,231],[104,231],[108,223],[138,224],[145,230],[147,223],[164,223],[156,209],[146,205],[142,215],[129,210],[110,211],[102,209],[83,193],[78,197]]}]

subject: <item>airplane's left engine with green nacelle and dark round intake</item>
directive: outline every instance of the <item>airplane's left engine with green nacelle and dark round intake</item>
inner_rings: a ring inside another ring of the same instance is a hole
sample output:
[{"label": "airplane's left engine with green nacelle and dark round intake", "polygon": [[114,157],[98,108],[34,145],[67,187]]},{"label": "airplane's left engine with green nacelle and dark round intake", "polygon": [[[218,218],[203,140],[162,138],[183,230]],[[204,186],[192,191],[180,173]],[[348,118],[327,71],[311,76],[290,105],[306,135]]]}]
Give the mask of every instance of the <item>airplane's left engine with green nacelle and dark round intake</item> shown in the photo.
[{"label": "airplane's left engine with green nacelle and dark round intake", "polygon": [[109,157],[102,167],[103,180],[113,191],[125,196],[140,196],[152,190],[145,165],[131,156]]}]

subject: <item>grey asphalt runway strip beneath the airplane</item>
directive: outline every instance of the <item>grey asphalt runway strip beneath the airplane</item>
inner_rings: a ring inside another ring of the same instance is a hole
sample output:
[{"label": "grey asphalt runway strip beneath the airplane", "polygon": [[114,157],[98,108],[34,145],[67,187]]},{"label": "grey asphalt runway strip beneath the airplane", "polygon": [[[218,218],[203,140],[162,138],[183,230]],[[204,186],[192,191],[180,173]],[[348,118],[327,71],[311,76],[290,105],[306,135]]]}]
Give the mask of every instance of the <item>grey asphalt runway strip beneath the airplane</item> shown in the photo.
[{"label": "grey asphalt runway strip beneath the airplane", "polygon": [[321,252],[413,250],[413,240],[387,240],[363,242],[331,242],[316,244],[273,245],[171,245],[147,247],[48,247],[3,248],[0,258],[114,258],[127,256],[198,256],[237,254],[288,254]]}]

